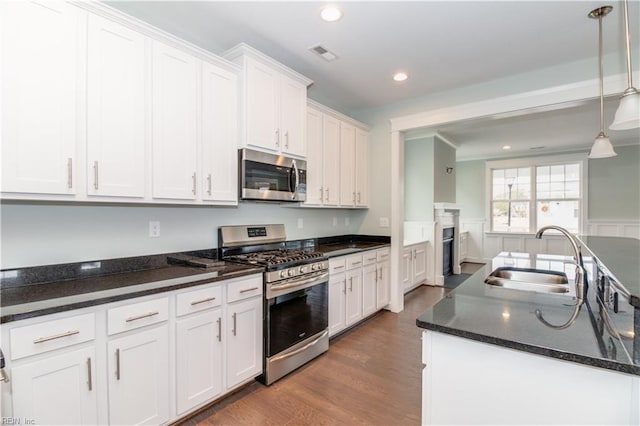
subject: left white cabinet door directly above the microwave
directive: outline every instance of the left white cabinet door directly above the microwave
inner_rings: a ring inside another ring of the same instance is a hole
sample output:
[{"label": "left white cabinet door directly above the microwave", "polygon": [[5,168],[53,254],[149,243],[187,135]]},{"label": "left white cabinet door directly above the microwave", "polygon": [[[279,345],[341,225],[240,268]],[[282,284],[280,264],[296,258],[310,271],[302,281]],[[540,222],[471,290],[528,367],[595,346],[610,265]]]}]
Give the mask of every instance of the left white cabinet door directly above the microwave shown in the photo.
[{"label": "left white cabinet door directly above the microwave", "polygon": [[278,151],[281,137],[278,128],[280,76],[268,66],[247,59],[246,77],[246,143]]}]

